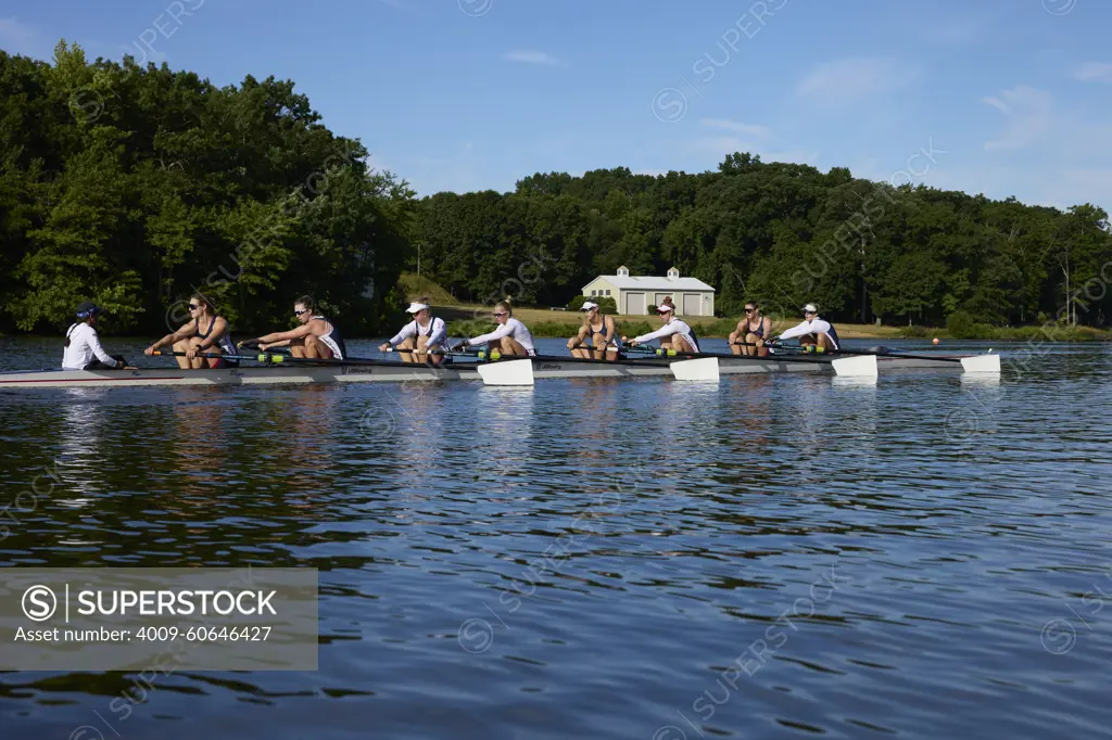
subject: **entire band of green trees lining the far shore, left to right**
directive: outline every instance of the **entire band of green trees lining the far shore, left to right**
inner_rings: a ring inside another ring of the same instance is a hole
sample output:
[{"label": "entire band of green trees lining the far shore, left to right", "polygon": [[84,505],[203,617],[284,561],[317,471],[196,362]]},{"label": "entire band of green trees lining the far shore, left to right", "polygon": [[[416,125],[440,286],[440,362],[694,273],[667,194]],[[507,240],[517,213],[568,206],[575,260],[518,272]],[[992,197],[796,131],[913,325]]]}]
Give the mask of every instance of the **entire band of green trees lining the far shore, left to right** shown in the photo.
[{"label": "entire band of green trees lining the far shore, left to right", "polygon": [[200,290],[237,333],[309,293],[348,334],[390,332],[398,274],[457,298],[564,306],[599,273],[676,266],[742,302],[841,321],[1103,326],[1112,236],[1066,212],[892,188],[731,154],[716,172],[537,173],[510,193],[438,193],[371,171],[288,81],[218,88],[165,64],[51,64],[0,51],[0,330],[52,332],[76,304],[161,333]]}]

